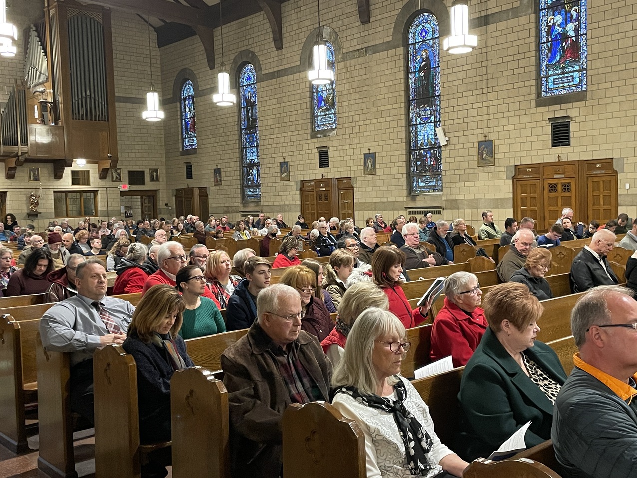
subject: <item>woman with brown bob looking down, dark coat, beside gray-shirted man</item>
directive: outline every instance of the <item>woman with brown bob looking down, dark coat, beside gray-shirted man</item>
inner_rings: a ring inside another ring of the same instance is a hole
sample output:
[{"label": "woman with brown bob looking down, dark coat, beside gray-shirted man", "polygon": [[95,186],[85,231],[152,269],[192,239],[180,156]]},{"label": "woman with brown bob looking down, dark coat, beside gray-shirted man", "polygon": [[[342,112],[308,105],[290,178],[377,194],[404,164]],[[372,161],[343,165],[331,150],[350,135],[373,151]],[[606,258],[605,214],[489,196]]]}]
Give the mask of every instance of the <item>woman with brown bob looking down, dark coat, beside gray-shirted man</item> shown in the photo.
[{"label": "woman with brown bob looking down, dark coat, beside gray-shirted man", "polygon": [[[132,314],[122,345],[137,368],[141,443],[170,440],[170,379],[175,370],[194,365],[178,334],[183,309],[182,296],[174,287],[150,287]],[[145,466],[156,472],[166,464],[152,461]]]}]

